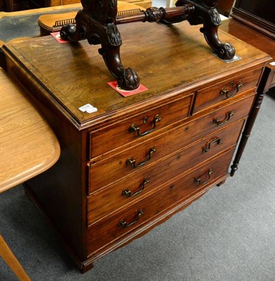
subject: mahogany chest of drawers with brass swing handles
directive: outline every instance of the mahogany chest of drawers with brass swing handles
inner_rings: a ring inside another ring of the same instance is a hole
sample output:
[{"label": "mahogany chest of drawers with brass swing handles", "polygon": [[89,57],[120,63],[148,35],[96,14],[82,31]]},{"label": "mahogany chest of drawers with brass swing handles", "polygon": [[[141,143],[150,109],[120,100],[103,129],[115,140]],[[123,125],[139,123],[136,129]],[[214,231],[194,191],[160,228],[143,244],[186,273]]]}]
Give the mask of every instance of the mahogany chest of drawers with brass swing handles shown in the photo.
[{"label": "mahogany chest of drawers with brass swing handles", "polygon": [[[83,271],[223,183],[243,126],[255,119],[268,55],[220,32],[241,57],[224,63],[187,25],[121,26],[122,60],[148,88],[127,98],[108,86],[98,47],[86,41],[50,36],[3,47],[8,73],[61,147],[58,163],[26,190]],[[79,110],[88,103],[97,111]]]}]

